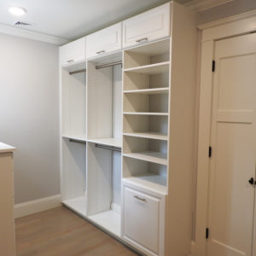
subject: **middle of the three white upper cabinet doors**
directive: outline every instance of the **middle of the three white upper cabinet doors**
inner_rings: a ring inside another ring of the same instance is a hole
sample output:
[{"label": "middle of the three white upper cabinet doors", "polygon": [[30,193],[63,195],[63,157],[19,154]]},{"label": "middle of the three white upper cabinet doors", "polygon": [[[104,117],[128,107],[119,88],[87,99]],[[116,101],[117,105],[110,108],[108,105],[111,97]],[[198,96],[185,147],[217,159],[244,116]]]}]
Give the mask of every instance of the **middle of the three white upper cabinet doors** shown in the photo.
[{"label": "middle of the three white upper cabinet doors", "polygon": [[122,49],[122,23],[108,26],[86,37],[87,58]]}]

